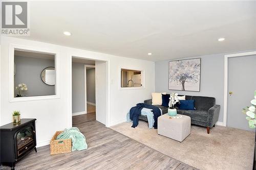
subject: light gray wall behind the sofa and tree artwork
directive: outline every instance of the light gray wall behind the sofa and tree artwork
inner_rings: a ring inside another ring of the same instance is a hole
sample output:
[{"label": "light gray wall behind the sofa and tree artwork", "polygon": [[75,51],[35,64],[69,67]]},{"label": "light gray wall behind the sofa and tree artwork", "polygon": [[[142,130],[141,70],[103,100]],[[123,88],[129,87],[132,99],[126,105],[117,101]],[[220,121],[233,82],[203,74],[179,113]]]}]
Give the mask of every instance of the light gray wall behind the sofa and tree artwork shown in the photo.
[{"label": "light gray wall behind the sofa and tree artwork", "polygon": [[[255,50],[250,50],[255,51]],[[249,52],[249,51],[243,51]],[[233,52],[225,54],[234,54]],[[224,55],[205,55],[182,59],[201,58],[201,89],[200,92],[168,90],[168,64],[169,61],[159,61],[155,64],[155,91],[156,92],[177,92],[184,95],[212,96],[216,98],[216,104],[221,105],[218,121],[223,122],[224,103]],[[177,60],[177,59],[175,59]]]}]

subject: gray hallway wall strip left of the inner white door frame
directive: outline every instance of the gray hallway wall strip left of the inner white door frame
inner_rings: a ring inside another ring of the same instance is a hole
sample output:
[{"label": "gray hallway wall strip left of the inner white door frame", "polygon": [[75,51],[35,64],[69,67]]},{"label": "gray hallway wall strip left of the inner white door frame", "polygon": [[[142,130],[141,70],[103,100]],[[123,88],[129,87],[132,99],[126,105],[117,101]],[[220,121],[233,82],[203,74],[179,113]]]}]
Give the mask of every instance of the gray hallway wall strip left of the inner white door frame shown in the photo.
[{"label": "gray hallway wall strip left of the inner white door frame", "polygon": [[84,64],[72,62],[72,113],[84,110]]}]

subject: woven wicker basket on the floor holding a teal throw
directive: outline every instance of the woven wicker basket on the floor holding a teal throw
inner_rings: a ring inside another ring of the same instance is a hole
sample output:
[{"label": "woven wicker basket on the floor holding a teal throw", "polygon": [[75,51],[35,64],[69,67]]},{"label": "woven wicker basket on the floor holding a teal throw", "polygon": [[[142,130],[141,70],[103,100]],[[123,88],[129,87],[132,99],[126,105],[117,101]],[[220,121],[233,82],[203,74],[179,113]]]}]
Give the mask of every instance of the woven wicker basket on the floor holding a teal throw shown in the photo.
[{"label": "woven wicker basket on the floor holding a teal throw", "polygon": [[50,141],[51,155],[71,152],[71,148],[72,148],[71,139],[56,140],[56,137],[61,132],[63,131],[57,131]]}]

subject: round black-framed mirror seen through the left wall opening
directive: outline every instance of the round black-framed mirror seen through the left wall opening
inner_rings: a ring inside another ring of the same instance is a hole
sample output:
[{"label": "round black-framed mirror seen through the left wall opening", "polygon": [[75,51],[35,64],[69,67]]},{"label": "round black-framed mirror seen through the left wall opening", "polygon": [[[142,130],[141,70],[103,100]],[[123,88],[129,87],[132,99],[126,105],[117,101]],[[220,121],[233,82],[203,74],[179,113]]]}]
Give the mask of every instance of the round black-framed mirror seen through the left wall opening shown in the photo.
[{"label": "round black-framed mirror seen through the left wall opening", "polygon": [[46,67],[43,69],[41,72],[41,80],[49,86],[54,86],[56,82],[55,67]]}]

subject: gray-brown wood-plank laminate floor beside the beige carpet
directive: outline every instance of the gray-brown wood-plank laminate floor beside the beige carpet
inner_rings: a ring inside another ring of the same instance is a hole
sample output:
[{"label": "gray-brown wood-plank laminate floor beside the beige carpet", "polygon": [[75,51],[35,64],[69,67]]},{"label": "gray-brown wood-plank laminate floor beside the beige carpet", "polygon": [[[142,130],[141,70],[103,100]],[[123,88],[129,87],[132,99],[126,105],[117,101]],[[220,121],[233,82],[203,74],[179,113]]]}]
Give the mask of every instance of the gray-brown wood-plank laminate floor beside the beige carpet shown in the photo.
[{"label": "gray-brown wood-plank laminate floor beside the beige carpet", "polygon": [[73,116],[73,126],[86,136],[87,150],[50,155],[47,145],[17,162],[16,169],[195,169],[106,128],[95,113]]}]

